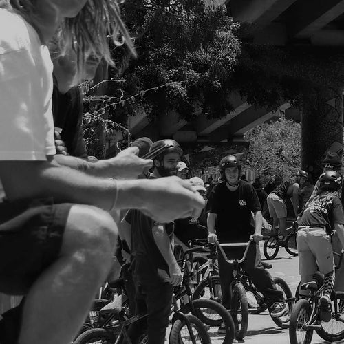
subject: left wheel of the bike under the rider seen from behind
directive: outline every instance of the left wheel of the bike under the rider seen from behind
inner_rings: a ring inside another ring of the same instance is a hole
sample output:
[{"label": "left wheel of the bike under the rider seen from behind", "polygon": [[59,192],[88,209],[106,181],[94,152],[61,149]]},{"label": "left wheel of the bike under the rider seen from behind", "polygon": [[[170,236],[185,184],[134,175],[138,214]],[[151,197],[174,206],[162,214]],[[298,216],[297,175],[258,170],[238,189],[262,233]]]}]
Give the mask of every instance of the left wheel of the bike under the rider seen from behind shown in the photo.
[{"label": "left wheel of the bike under the rider seen from behind", "polygon": [[300,299],[295,304],[290,317],[289,340],[290,344],[310,344],[313,330],[305,330],[305,325],[310,322],[312,307],[305,299]]}]

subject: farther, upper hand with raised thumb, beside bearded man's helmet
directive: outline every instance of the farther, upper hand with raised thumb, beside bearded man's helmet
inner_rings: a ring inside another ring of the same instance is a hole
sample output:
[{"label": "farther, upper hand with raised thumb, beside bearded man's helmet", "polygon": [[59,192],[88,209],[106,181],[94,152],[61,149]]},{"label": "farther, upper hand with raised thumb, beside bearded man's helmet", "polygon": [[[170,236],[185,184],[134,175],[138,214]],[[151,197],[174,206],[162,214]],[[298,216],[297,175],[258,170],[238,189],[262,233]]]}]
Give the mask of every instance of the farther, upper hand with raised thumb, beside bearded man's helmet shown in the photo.
[{"label": "farther, upper hand with raised thumb, beside bearded man's helmet", "polygon": [[153,160],[139,158],[138,152],[138,147],[129,147],[108,160],[114,178],[136,179],[138,175],[149,171]]}]

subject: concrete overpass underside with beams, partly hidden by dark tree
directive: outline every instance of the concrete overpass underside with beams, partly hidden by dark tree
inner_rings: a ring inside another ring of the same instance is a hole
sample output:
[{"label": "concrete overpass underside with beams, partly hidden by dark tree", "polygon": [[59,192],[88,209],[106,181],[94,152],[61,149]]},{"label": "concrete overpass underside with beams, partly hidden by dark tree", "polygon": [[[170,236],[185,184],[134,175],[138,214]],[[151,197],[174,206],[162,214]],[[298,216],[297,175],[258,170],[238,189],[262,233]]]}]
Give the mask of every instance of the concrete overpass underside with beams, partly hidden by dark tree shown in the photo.
[{"label": "concrete overpass underside with beams, partly hidden by dark tree", "polygon": [[[227,0],[225,3],[235,21],[252,24],[248,34],[253,43],[344,45],[344,0]],[[155,140],[170,137],[180,142],[235,142],[241,141],[248,129],[276,116],[266,109],[252,107],[239,94],[231,94],[230,100],[234,111],[218,120],[208,120],[206,114],[200,114],[193,122],[186,122],[171,113],[159,122],[149,123],[140,114],[129,120],[129,129],[134,137],[150,136]],[[281,104],[280,109],[287,118],[300,118],[289,103]]]}]

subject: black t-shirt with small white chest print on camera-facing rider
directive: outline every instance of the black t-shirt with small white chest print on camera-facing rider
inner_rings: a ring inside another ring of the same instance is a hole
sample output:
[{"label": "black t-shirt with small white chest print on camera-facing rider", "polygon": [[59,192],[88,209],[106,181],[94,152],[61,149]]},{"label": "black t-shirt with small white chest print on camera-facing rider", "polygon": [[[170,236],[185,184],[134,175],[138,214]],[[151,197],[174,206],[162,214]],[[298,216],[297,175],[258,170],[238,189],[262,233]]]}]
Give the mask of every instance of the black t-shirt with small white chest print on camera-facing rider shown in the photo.
[{"label": "black t-shirt with small white chest print on camera-facing rider", "polygon": [[217,184],[208,200],[208,212],[217,214],[215,230],[221,243],[248,241],[255,231],[251,211],[260,210],[255,189],[243,180],[235,191],[230,191],[225,182]]}]

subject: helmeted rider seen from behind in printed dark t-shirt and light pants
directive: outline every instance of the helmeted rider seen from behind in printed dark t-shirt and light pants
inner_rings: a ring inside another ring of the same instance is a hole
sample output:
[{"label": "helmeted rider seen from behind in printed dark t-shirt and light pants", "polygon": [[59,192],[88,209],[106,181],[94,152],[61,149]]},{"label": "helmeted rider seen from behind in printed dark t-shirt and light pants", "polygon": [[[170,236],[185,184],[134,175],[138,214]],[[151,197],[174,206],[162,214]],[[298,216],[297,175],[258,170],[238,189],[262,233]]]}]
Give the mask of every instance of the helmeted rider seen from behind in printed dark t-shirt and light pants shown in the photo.
[{"label": "helmeted rider seen from behind in printed dark t-shirt and light pants", "polygon": [[[344,244],[344,213],[338,190],[341,175],[336,171],[326,171],[319,178],[316,195],[310,198],[298,219],[297,250],[299,252],[299,272],[301,285],[312,281],[319,271],[325,275],[323,295],[320,299],[323,321],[330,321],[330,295],[334,286],[334,257],[330,234],[332,229]],[[306,291],[299,290],[301,297]]]}]

